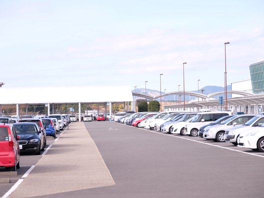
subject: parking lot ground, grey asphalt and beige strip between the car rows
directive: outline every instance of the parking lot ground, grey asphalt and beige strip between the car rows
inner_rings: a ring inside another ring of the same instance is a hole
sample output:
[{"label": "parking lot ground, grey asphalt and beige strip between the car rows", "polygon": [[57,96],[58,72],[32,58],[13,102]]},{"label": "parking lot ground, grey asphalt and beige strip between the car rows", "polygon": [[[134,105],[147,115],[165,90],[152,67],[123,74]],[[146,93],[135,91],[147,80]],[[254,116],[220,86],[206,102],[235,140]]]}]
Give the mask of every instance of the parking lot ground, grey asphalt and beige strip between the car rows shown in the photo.
[{"label": "parking lot ground, grey asphalt and beige strip between the car rows", "polygon": [[10,197],[263,197],[264,153],[227,142],[92,121],[47,144],[21,156],[1,196],[23,179]]}]

